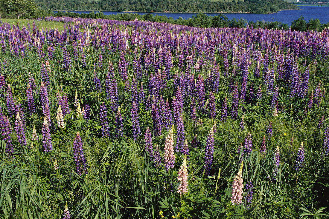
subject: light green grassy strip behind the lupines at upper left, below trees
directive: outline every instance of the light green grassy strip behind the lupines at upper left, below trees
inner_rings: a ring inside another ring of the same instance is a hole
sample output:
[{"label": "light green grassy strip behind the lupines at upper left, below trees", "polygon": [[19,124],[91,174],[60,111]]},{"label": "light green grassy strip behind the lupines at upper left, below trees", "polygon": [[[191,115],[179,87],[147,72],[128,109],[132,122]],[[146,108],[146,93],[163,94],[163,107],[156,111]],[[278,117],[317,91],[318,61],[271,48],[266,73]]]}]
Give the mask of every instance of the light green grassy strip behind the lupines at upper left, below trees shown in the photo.
[{"label": "light green grassy strip behind the lupines at upper left, below trees", "polygon": [[44,27],[47,29],[55,29],[58,28],[59,31],[63,30],[63,23],[56,22],[56,21],[37,21],[33,19],[3,19],[1,18],[1,22],[8,22],[12,26],[13,24],[16,25],[18,22],[19,28],[22,28],[23,26],[27,27],[27,23],[29,22],[32,28],[33,21],[36,22],[36,26],[38,28]]}]

